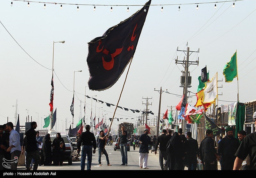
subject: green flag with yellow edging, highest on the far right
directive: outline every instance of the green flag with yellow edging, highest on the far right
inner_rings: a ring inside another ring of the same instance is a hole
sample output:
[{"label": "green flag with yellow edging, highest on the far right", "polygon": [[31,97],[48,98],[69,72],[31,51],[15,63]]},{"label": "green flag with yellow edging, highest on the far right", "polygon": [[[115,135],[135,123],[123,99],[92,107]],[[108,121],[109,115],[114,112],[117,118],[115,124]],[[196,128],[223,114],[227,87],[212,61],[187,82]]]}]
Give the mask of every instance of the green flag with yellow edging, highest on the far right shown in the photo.
[{"label": "green flag with yellow edging, highest on the far right", "polygon": [[225,77],[225,82],[231,82],[237,77],[236,52],[231,57],[230,61],[225,65],[223,75]]}]

